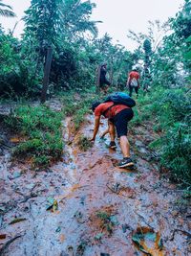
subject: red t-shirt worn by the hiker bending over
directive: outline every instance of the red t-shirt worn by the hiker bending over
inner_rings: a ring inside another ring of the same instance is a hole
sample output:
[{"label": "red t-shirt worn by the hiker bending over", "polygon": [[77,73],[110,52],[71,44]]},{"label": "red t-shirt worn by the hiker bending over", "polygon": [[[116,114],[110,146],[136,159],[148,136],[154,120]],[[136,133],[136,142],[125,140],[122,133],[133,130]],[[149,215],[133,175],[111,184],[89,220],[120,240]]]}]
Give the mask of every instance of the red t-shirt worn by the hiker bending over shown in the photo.
[{"label": "red t-shirt worn by the hiker bending over", "polygon": [[[108,107],[110,107],[111,105],[114,105],[114,103],[109,102],[109,103],[103,103],[103,104],[97,105],[95,109],[95,116],[101,116],[104,113],[104,111],[108,109]],[[105,113],[105,117],[106,118],[114,117],[117,115],[117,113],[119,113],[121,110],[125,108],[130,108],[130,107],[127,105],[114,105],[111,107],[111,109],[109,109]]]}]

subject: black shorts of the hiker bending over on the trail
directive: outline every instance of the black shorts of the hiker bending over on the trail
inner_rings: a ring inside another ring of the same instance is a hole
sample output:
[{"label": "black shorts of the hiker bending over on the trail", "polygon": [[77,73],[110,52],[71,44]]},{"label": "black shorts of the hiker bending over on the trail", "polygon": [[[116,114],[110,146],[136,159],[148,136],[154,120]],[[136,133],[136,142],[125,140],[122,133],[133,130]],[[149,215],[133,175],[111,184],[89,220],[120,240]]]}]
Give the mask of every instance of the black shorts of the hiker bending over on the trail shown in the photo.
[{"label": "black shorts of the hiker bending over on the trail", "polygon": [[132,108],[125,108],[121,110],[114,118],[110,121],[117,128],[117,137],[127,136],[127,124],[134,117],[134,112]]}]

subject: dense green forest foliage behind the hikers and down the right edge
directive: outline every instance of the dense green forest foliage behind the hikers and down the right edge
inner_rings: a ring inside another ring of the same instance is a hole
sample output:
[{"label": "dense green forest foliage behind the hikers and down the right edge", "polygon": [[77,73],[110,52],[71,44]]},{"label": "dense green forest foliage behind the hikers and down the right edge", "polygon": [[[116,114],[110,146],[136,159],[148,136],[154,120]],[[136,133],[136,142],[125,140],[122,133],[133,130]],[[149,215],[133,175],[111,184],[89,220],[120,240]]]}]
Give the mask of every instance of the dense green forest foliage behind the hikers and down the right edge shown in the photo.
[{"label": "dense green forest foliage behind the hikers and down the right edge", "polygon": [[[2,1],[0,9],[1,5]],[[180,12],[164,24],[149,21],[147,34],[129,31],[128,37],[138,43],[134,52],[114,44],[108,34],[97,37],[97,23],[101,21],[92,20],[94,8],[96,5],[88,0],[32,0],[25,12],[21,39],[11,32],[6,34],[1,27],[0,94],[11,99],[38,97],[48,47],[53,48],[52,94],[87,89],[95,92],[96,69],[102,62],[108,63],[114,90],[125,89],[127,73],[133,66],[137,65],[141,74],[147,67],[151,88],[138,99],[139,121],[155,121],[154,128],[161,137],[153,147],[158,148],[162,166],[174,179],[191,187],[191,2],[185,0]],[[8,11],[12,12],[10,7]],[[81,112],[83,119],[85,110]]]}]

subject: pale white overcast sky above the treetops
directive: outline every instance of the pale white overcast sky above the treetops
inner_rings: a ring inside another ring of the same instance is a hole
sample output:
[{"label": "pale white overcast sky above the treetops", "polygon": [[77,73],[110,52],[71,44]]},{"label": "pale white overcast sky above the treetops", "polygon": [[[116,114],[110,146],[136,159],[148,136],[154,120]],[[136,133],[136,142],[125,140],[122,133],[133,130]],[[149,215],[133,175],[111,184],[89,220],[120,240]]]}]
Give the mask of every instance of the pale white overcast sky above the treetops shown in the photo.
[{"label": "pale white overcast sky above the treetops", "polygon": [[[24,23],[20,21],[24,11],[30,6],[30,0],[3,0],[4,4],[11,5],[16,18],[0,17],[0,23],[8,30],[14,27],[15,36],[22,33]],[[93,20],[100,20],[98,24],[99,37],[108,33],[114,38],[114,43],[120,43],[133,50],[136,45],[127,38],[128,30],[146,33],[148,20],[159,19],[164,22],[168,17],[174,17],[180,10],[184,0],[93,0],[96,9],[92,14]]]}]

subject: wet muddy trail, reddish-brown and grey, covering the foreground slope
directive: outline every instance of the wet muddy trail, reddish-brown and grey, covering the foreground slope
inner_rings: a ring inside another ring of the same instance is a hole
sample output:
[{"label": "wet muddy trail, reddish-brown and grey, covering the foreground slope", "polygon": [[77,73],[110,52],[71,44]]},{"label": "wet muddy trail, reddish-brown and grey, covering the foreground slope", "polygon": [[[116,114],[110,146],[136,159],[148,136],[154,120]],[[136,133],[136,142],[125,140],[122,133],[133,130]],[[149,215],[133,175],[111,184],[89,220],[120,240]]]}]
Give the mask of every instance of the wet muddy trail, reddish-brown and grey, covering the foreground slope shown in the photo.
[{"label": "wet muddy trail, reddish-brown and grey, covering the foreground slope", "polygon": [[108,137],[79,151],[79,136],[91,137],[93,124],[88,115],[75,133],[71,118],[63,122],[63,159],[48,171],[12,163],[2,149],[0,255],[190,255],[191,212],[182,192],[159,176],[148,149],[151,126],[130,132],[136,168],[125,170],[117,168],[119,146],[109,150]]}]

